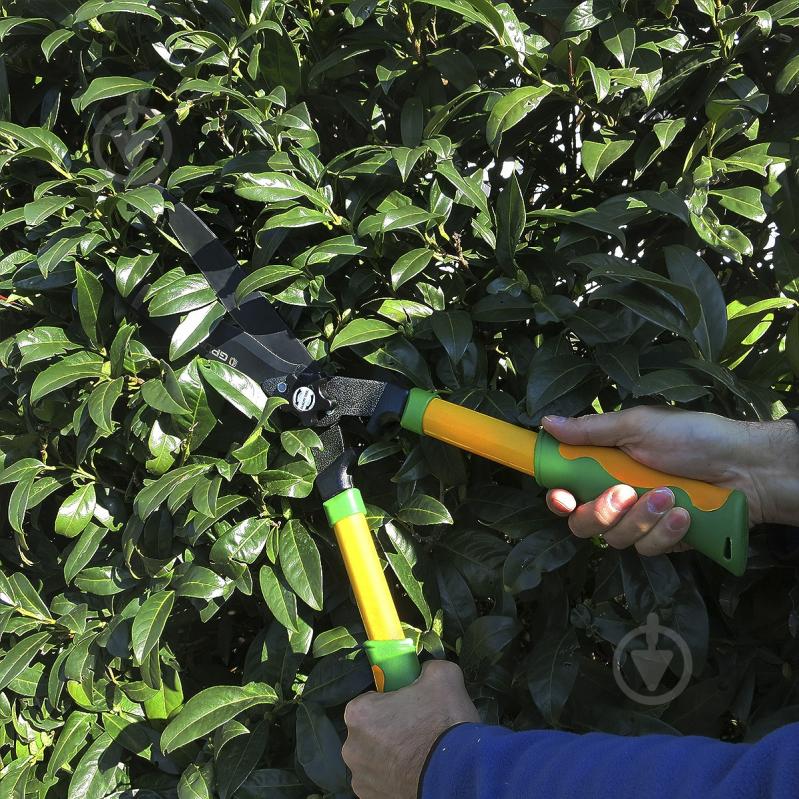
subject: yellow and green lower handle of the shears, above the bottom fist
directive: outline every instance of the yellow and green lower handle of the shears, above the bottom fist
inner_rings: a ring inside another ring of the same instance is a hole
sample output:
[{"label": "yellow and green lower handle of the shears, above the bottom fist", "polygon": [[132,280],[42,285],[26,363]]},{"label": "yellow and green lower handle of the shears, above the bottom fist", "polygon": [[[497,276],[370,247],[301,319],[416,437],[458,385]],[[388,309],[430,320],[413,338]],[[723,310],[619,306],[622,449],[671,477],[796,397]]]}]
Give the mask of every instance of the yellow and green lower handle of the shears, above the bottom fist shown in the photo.
[{"label": "yellow and green lower handle of the shears, above the bottom fist", "polygon": [[324,507],[369,636],[365,649],[375,686],[378,691],[396,691],[410,685],[421,671],[416,646],[403,633],[366,521],[361,492],[348,488],[327,500]]}]

